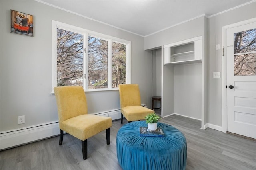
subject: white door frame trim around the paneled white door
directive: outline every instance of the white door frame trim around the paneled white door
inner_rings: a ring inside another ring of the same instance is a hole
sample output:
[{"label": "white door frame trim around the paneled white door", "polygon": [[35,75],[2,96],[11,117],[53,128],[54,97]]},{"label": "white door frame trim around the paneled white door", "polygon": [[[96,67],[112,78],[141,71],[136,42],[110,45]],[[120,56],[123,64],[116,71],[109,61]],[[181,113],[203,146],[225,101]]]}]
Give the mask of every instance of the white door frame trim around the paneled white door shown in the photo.
[{"label": "white door frame trim around the paneled white door", "polygon": [[238,27],[241,25],[246,25],[249,23],[256,22],[256,18],[251,18],[249,20],[240,21],[237,23],[233,23],[230,25],[226,25],[222,27],[222,132],[227,132],[227,125],[228,125],[228,98],[227,98],[227,29]]}]

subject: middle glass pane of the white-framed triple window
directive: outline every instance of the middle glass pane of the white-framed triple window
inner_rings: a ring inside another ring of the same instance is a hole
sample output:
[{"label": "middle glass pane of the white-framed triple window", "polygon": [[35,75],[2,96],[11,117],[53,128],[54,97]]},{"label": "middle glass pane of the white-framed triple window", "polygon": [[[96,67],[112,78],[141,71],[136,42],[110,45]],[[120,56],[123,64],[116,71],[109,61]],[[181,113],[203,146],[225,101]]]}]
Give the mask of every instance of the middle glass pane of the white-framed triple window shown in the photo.
[{"label": "middle glass pane of the white-framed triple window", "polygon": [[108,41],[88,37],[88,89],[108,88]]}]

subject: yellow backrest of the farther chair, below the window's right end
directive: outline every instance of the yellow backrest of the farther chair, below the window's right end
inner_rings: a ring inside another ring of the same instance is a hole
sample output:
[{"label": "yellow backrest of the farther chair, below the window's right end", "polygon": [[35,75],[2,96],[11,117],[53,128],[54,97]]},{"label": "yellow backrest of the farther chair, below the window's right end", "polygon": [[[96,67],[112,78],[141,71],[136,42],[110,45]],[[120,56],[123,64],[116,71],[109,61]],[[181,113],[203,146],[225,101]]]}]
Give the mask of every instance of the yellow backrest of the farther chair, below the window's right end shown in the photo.
[{"label": "yellow backrest of the farther chair, below the window's right end", "polygon": [[138,84],[119,84],[120,106],[140,106],[140,89]]}]

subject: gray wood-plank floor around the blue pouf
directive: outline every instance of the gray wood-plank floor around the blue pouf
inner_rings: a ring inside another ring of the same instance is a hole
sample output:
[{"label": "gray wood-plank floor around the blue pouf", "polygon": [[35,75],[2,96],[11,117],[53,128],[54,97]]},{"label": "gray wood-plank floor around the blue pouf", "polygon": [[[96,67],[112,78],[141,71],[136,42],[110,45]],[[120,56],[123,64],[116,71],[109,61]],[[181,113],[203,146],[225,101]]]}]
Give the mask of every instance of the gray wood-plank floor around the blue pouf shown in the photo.
[{"label": "gray wood-plank floor around the blue pouf", "polygon": [[[198,120],[172,115],[162,118],[184,133],[186,170],[256,170],[256,142],[213,129],[201,130]],[[124,124],[127,121],[124,119]],[[0,151],[0,170],[121,170],[116,158],[116,133],[122,125],[113,121],[110,145],[106,131],[88,139],[88,159],[83,160],[81,141],[64,135]]]}]

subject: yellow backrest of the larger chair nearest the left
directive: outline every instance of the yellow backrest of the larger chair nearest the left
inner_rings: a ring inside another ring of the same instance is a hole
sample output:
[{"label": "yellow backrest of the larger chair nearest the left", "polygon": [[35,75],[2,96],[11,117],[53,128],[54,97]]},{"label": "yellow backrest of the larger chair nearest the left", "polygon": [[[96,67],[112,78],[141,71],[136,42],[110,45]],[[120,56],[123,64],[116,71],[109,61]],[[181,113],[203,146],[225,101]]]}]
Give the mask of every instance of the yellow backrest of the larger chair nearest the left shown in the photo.
[{"label": "yellow backrest of the larger chair nearest the left", "polygon": [[54,87],[58,107],[59,123],[87,114],[87,101],[82,86],[62,86]]}]

